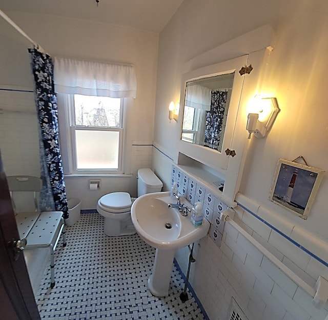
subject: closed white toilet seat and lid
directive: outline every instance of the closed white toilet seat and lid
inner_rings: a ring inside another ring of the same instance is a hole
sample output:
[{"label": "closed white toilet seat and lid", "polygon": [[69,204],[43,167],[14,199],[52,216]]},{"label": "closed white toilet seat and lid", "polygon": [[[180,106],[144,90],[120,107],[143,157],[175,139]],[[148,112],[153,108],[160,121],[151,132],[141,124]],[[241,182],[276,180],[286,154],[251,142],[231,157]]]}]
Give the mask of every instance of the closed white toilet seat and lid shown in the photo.
[{"label": "closed white toilet seat and lid", "polygon": [[131,205],[131,196],[128,192],[113,192],[105,194],[98,201],[100,209],[112,213],[130,211]]}]

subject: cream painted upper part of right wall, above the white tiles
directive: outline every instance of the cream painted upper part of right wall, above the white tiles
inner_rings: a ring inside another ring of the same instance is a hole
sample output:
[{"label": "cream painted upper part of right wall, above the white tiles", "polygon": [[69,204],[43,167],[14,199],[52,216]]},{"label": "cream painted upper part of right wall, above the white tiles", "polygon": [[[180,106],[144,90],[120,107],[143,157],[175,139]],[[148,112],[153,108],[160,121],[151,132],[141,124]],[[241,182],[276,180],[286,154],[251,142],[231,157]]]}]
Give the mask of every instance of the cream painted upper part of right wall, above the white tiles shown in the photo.
[{"label": "cream painted upper part of right wall, above the white tiles", "polygon": [[[227,39],[261,24],[271,24],[276,31],[275,49],[269,58],[262,92],[278,98],[281,112],[267,138],[252,139],[240,191],[286,216],[268,201],[278,158],[292,160],[303,155],[311,166],[327,170],[327,149],[324,148],[328,135],[324,116],[326,80],[322,69],[327,41],[325,19],[321,18],[328,10],[327,4],[322,1],[243,4],[184,2],[161,32],[154,142],[175,158],[175,136],[179,134],[179,126],[169,122],[167,109],[171,100],[179,101],[183,65]],[[244,6],[249,8],[247,15]],[[215,22],[210,19],[213,12],[217,15]],[[233,23],[226,21],[227,16]],[[193,41],[188,42],[191,37]],[[168,181],[168,177],[162,178]],[[324,209],[327,188],[324,179],[307,221],[290,214],[286,218],[327,238]]]}]

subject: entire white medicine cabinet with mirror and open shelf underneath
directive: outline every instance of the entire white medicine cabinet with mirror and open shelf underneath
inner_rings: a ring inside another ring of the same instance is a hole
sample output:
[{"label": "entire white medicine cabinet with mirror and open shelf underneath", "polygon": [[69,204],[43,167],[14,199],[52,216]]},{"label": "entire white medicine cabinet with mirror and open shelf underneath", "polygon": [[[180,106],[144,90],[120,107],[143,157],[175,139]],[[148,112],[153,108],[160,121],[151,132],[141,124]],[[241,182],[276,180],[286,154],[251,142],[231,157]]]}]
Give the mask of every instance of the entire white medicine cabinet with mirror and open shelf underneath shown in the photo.
[{"label": "entire white medicine cabinet with mirror and open shelf underneath", "polygon": [[[252,51],[182,75],[176,164],[230,207],[236,206],[249,141],[247,106],[269,52]],[[251,65],[251,72],[241,72]]]}]

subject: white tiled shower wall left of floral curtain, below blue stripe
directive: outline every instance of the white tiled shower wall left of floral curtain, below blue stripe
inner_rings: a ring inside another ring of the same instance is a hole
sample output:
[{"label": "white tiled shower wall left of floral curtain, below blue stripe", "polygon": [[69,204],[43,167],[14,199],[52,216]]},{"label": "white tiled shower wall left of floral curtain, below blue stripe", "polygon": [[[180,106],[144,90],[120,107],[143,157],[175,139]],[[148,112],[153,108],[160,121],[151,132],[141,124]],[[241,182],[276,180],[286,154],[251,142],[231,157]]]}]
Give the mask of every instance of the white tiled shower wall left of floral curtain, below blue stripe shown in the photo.
[{"label": "white tiled shower wall left of floral curtain, below blue stripe", "polygon": [[40,175],[33,92],[0,88],[0,149],[7,175]]}]

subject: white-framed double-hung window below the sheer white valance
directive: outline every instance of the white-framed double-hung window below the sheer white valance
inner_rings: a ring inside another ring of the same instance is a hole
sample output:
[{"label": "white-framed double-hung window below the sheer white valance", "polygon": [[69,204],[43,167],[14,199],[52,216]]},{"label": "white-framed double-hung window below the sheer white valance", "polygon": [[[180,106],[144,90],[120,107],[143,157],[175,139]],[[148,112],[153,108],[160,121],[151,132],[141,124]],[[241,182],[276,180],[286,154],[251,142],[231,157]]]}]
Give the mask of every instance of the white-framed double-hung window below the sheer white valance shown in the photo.
[{"label": "white-framed double-hung window below the sheer white valance", "polygon": [[[64,99],[65,108],[60,108],[60,99]],[[58,96],[65,173],[122,173],[123,102],[101,96]],[[66,113],[65,128],[60,111]]]}]

